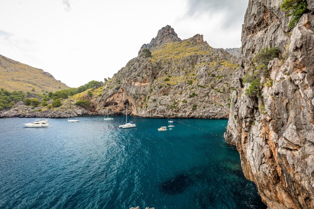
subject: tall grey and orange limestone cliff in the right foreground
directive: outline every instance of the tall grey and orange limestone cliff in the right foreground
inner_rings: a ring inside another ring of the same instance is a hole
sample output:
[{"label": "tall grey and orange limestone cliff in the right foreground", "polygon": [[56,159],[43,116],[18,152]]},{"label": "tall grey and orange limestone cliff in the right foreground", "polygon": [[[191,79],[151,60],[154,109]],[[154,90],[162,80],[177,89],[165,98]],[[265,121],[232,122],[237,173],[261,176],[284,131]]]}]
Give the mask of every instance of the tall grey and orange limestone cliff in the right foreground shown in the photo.
[{"label": "tall grey and orange limestone cliff in the right foreground", "polygon": [[[249,1],[243,73],[262,48],[277,47],[281,59],[269,62],[272,84],[262,86],[262,97],[246,95],[249,84],[233,92],[225,138],[270,209],[314,208],[314,16],[306,12],[289,30],[281,3]],[[307,4],[313,11],[313,1]]]}]

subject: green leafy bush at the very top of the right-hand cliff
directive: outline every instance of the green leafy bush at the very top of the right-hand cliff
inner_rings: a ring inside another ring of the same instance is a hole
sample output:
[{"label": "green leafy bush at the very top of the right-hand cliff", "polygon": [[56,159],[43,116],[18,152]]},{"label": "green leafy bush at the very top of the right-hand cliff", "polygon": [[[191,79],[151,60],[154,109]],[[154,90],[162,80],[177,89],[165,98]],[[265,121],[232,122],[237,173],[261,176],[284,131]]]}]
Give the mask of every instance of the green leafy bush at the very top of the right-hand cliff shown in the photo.
[{"label": "green leafy bush at the very top of the right-hand cliff", "polygon": [[284,12],[288,12],[286,16],[292,16],[289,22],[289,29],[293,28],[306,11],[306,0],[284,0],[280,8]]}]

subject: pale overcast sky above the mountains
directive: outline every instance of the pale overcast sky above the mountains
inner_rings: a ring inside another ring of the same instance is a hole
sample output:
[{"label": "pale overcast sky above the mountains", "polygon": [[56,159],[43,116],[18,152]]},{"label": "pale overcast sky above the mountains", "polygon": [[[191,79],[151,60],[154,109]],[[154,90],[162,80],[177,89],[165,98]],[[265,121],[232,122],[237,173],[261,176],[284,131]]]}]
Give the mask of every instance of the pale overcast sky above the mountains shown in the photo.
[{"label": "pale overcast sky above the mountains", "polygon": [[241,46],[248,0],[0,0],[0,54],[70,87],[111,78],[170,25],[214,48]]}]

